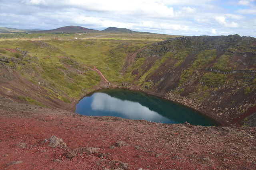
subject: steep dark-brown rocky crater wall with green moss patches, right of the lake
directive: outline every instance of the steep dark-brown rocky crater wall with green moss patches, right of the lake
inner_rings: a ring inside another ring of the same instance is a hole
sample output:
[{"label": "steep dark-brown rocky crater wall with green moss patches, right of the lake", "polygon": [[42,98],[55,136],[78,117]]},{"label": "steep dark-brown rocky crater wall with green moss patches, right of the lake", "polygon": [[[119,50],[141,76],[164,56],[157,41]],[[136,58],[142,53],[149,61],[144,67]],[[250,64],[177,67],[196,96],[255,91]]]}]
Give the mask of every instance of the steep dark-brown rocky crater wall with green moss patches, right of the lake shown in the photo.
[{"label": "steep dark-brown rocky crater wall with green moss patches, right of the lake", "polygon": [[144,91],[198,109],[223,124],[237,123],[256,106],[256,39],[193,36],[158,42],[137,54],[127,75]]}]

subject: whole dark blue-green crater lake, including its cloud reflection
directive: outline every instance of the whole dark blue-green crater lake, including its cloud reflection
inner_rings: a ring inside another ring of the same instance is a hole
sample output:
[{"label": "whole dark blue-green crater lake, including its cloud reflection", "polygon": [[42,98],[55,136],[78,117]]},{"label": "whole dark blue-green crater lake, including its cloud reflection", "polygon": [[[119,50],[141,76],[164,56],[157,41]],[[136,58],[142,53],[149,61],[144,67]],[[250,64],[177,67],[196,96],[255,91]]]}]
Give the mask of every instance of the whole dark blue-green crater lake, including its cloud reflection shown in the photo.
[{"label": "whole dark blue-green crater lake, including its cloud reflection", "polygon": [[76,105],[76,113],[90,116],[116,116],[160,123],[219,126],[214,119],[182,104],[141,91],[121,88],[96,90]]}]

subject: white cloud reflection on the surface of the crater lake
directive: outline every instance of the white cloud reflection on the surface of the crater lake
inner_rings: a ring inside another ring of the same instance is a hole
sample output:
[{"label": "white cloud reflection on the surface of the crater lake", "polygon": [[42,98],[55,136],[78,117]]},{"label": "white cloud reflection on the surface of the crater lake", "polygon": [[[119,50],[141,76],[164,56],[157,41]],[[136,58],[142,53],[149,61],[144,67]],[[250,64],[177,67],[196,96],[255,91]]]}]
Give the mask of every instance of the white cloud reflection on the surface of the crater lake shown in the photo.
[{"label": "white cloud reflection on the surface of the crater lake", "polygon": [[138,102],[120,100],[104,93],[95,93],[91,104],[92,110],[118,112],[130,119],[161,121],[165,119],[157,112],[142,106]]}]

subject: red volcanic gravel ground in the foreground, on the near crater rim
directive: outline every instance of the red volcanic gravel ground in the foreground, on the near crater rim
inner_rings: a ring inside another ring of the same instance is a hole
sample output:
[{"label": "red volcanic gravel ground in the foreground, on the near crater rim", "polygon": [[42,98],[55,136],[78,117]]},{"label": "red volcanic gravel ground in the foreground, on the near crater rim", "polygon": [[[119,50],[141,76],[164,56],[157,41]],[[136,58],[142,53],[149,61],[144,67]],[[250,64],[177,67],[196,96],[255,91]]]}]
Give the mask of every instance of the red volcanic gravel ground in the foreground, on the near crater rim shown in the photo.
[{"label": "red volcanic gravel ground in the foreground, on the near crater rim", "polygon": [[[256,167],[255,127],[202,127],[89,117],[6,98],[0,98],[0,113],[0,169]],[[67,147],[41,143],[53,135],[62,138]],[[79,152],[81,147],[99,149]]]}]

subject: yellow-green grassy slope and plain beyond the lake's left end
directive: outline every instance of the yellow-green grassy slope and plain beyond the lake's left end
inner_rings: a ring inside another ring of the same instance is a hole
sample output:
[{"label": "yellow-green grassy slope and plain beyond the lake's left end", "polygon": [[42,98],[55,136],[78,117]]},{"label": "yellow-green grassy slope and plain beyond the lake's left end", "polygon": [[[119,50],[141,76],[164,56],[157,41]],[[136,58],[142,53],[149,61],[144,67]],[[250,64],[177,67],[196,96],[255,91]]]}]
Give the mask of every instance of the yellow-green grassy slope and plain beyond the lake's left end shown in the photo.
[{"label": "yellow-green grassy slope and plain beyond the lake's left end", "polygon": [[[19,96],[18,99],[30,103],[35,103],[30,99],[41,100],[40,98],[58,98],[70,103],[99,85],[100,77],[90,69],[93,66],[110,82],[123,82],[120,72],[126,56],[148,43],[152,42],[51,38],[45,41],[0,41],[1,69],[20,73],[22,79],[29,80],[44,92],[35,92],[37,94],[31,96],[31,90],[24,93],[27,88],[25,86],[18,87],[24,88],[23,94],[18,94],[14,87],[9,87],[13,82],[3,83],[0,90],[4,94],[9,92],[10,97]],[[2,76],[6,75],[5,71],[2,71]]]}]

